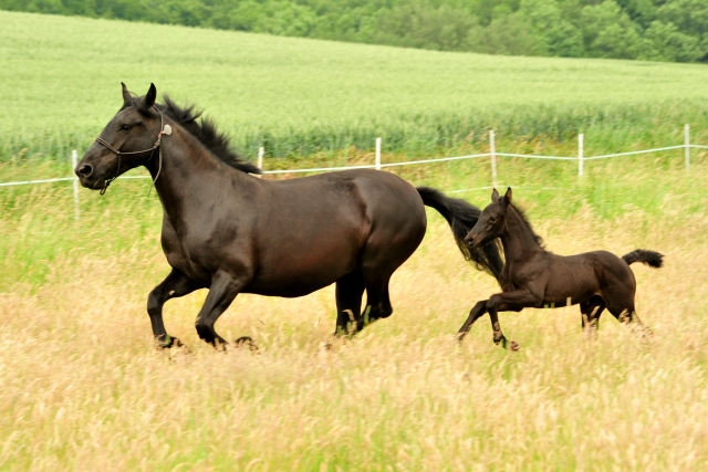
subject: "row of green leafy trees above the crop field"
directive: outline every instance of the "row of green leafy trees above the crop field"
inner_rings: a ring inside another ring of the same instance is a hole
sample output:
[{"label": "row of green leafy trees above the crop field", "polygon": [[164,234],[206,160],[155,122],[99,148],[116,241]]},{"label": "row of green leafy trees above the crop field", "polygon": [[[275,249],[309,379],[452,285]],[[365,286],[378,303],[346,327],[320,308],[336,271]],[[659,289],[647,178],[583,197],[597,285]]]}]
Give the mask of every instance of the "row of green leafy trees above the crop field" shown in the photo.
[{"label": "row of green leafy trees above the crop field", "polygon": [[707,0],[0,0],[0,9],[442,51],[708,62]]}]

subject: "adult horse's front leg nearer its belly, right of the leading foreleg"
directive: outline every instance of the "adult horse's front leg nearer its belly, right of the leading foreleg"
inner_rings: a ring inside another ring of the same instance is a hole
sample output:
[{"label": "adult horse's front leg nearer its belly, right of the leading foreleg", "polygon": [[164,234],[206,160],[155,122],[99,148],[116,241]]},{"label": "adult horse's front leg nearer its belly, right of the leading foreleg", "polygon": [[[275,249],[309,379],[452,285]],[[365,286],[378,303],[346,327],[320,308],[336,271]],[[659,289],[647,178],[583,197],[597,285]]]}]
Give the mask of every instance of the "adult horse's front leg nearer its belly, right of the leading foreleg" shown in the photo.
[{"label": "adult horse's front leg nearer its belly, right of the leading foreleg", "polygon": [[217,334],[214,324],[226,312],[243,286],[246,283],[242,280],[225,272],[218,273],[211,281],[207,300],[195,322],[199,337],[218,350],[225,349],[228,343]]}]

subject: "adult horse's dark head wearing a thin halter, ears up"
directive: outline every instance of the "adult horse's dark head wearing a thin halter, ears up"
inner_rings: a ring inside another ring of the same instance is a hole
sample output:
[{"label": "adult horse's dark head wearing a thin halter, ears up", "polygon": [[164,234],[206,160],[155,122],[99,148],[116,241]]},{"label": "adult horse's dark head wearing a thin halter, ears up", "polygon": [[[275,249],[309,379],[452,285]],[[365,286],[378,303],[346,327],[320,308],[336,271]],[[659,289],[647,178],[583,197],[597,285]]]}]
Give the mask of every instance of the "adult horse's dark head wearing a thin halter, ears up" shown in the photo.
[{"label": "adult horse's dark head wearing a thin halter, ears up", "polygon": [[121,174],[147,164],[160,143],[163,116],[155,107],[155,85],[143,97],[121,85],[123,106],[74,169],[82,186],[102,192]]}]

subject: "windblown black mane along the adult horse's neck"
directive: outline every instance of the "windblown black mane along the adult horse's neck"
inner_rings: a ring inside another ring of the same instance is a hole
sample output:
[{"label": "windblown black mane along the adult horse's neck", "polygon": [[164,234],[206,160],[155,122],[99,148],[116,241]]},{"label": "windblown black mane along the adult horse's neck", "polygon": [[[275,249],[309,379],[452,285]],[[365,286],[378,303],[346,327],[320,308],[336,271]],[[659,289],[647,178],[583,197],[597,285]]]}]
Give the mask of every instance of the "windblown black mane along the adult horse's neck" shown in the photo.
[{"label": "windblown black mane along the adult horse's neck", "polygon": [[[134,97],[133,104],[140,107],[139,99]],[[248,174],[261,174],[261,169],[253,164],[243,160],[235,150],[231,149],[231,138],[226,133],[217,130],[217,126],[210,118],[201,116],[202,109],[196,109],[196,104],[179,106],[169,98],[167,94],[163,95],[165,104],[156,104],[157,108],[177,122],[191,136],[201,143],[209,151],[223,164],[233,167],[237,170]],[[129,104],[125,104],[128,106]],[[201,118],[197,122],[198,118]]]}]

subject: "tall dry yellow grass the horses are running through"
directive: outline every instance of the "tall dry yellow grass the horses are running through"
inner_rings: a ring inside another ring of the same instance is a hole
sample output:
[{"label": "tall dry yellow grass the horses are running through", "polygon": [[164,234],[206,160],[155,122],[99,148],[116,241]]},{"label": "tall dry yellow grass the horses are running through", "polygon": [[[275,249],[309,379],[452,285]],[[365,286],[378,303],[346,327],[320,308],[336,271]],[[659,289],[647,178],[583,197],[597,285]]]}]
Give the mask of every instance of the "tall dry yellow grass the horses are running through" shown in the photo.
[{"label": "tall dry yellow grass the horses are running through", "polygon": [[330,337],[331,287],[243,295],[217,329],[252,336],[260,352],[219,354],[194,331],[200,292],[166,305],[168,331],[192,354],[156,352],[146,294],[167,270],[152,237],[73,252],[41,285],[11,285],[0,295],[0,469],[708,468],[705,212],[674,201],[659,217],[627,207],[614,219],[534,219],[558,253],[643,247],[666,266],[634,266],[650,343],[608,314],[591,342],[577,307],[501,314],[520,353],[492,344],[487,317],[452,339],[494,284],[429,214],[393,279],[394,315],[352,340]]}]

